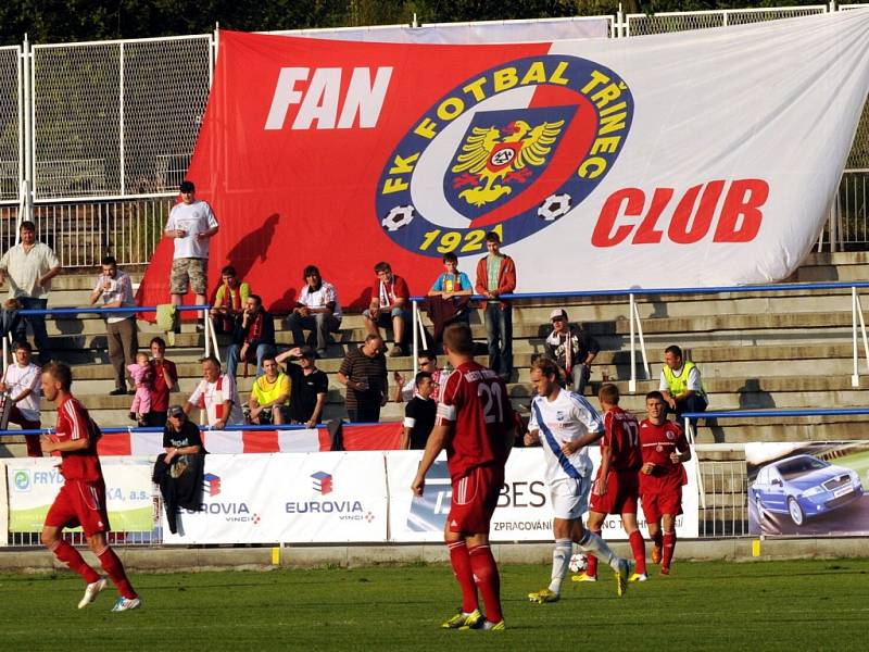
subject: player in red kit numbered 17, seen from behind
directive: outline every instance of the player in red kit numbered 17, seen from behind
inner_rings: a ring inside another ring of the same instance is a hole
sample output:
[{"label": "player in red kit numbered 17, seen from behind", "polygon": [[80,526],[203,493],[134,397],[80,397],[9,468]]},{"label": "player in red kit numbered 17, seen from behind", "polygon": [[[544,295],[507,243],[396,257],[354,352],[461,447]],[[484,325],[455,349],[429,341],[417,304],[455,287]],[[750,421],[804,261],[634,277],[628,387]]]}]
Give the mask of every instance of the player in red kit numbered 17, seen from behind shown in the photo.
[{"label": "player in red kit numbered 17, seen from behind", "polygon": [[[637,498],[640,493],[640,427],[637,417],[618,406],[618,387],[604,385],[597,393],[604,412],[604,438],[601,441],[601,466],[591,488],[588,527],[599,537],[607,514],[621,515],[621,526],[628,535],[633,553],[634,572],[629,581],[648,579],[645,570],[645,542],[637,527]],[[583,577],[584,576],[584,577]],[[589,566],[576,581],[597,578],[597,560],[589,556]]]}]

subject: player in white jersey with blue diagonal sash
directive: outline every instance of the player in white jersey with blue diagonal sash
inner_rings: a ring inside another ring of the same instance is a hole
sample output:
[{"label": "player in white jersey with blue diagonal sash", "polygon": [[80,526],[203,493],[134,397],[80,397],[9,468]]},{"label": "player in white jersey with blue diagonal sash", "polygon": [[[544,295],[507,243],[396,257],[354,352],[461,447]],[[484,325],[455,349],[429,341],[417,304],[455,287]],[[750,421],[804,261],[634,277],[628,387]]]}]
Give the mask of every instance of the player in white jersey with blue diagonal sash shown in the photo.
[{"label": "player in white jersey with blue diagonal sash", "polygon": [[616,574],[620,597],[628,588],[630,564],[616,556],[601,537],[582,526],[592,482],[587,447],[603,437],[604,424],[583,397],[562,389],[558,377],[558,366],[552,360],[540,359],[531,365],[531,383],[537,396],[531,401],[525,444],[543,448],[546,482],[552,494],[555,549],[550,586],[529,593],[528,599],[541,604],[558,600],[574,542],[587,554],[609,564]]}]

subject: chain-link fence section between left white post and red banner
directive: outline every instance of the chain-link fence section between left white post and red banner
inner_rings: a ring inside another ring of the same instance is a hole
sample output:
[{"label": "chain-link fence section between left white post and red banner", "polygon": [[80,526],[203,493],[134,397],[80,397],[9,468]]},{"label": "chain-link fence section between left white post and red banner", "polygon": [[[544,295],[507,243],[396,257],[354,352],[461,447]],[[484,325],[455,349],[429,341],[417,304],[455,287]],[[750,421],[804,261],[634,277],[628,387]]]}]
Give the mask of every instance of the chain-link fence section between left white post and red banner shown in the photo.
[{"label": "chain-link fence section between left white post and red banner", "polygon": [[172,192],[211,84],[212,37],[33,48],[34,199]]}]

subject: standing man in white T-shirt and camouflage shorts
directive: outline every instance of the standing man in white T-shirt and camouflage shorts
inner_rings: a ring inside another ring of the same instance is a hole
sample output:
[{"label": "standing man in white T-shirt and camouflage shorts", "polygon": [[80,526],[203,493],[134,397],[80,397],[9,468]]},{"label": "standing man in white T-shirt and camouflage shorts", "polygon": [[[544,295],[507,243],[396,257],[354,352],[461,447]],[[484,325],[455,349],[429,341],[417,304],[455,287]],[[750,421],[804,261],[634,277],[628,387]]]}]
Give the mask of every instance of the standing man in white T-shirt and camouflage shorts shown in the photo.
[{"label": "standing man in white T-shirt and camouflage shorts", "polygon": [[[192,181],[182,181],[179,190],[181,202],[173,206],[163,231],[167,238],[175,239],[169,292],[172,302],[180,305],[191,287],[197,296],[197,305],[204,305],[209,286],[209,240],[217,234],[219,225],[209,203],[197,199]],[[203,315],[199,327],[204,326]]]}]

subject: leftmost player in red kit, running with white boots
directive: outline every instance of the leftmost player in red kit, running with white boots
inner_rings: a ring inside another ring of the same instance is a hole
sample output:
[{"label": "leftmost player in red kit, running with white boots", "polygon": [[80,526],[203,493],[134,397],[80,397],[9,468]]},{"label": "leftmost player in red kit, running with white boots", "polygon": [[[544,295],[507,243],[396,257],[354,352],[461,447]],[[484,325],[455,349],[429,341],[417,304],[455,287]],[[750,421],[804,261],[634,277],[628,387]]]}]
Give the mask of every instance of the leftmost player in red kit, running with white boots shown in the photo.
[{"label": "leftmost player in red kit, running with white boots", "polygon": [[141,600],[133,590],[124,565],[105,539],[105,532],[109,531],[105,482],[97,455],[100,429],[85,406],[70,392],[72,384],[73,373],[62,362],[50,362],[42,367],[42,396],[52,401],[58,410],[56,435],[42,436],[42,451],[60,453],[60,471],[64,478],[63,487],[46,516],[42,543],[87,582],[85,597],[78,603],[78,609],[84,609],[105,588],[105,579],[62,538],[63,528],[80,525],[88,547],[121,591],[121,598],[112,611],[136,609]]}]

